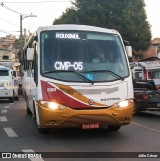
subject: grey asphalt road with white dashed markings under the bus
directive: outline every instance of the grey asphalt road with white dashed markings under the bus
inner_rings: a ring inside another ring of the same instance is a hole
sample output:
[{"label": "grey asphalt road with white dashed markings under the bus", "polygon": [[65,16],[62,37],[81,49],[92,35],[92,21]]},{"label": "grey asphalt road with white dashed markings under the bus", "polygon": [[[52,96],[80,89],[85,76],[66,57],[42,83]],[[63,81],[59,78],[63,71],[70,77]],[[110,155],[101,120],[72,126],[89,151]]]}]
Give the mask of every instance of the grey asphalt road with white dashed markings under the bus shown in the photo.
[{"label": "grey asphalt road with white dashed markings under the bus", "polygon": [[[159,138],[160,112],[143,112],[140,116],[133,116],[131,124],[123,126],[118,132],[107,129],[56,129],[40,134],[32,116],[27,115],[23,97],[14,103],[0,100],[0,152],[9,153],[3,154],[3,157],[10,155],[10,152],[12,157],[18,157],[14,155],[15,152],[19,157],[28,157],[28,154],[35,156],[40,152],[36,156],[42,156],[40,159],[23,160],[154,161],[160,160]],[[159,152],[158,156],[154,152]],[[139,158],[132,157],[135,155]]]}]

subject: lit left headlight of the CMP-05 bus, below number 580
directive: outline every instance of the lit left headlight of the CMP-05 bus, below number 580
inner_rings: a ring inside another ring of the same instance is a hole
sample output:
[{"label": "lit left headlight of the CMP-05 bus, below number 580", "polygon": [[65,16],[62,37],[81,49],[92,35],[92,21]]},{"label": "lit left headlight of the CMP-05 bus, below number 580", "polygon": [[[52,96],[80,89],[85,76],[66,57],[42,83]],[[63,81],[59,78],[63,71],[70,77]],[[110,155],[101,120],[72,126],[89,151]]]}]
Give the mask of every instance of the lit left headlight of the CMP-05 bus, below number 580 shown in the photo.
[{"label": "lit left headlight of the CMP-05 bus, below number 580", "polygon": [[60,105],[56,102],[42,101],[42,100],[40,100],[39,102],[43,107],[46,107],[52,110],[64,110],[65,108],[67,108],[67,106]]}]

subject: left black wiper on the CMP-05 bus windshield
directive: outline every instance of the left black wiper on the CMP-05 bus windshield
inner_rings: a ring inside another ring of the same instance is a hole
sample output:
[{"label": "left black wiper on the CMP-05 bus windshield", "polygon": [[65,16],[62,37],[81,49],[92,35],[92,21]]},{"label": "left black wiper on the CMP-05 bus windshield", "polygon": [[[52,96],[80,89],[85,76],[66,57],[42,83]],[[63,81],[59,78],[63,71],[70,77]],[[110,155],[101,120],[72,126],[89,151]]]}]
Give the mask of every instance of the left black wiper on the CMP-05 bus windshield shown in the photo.
[{"label": "left black wiper on the CMP-05 bus windshield", "polygon": [[83,76],[82,74],[78,73],[78,72],[75,72],[75,71],[67,71],[67,70],[53,70],[53,71],[47,71],[47,72],[44,72],[43,74],[48,74],[48,73],[60,73],[60,72],[64,72],[64,73],[74,73],[74,74],[77,74],[78,76],[80,76],[81,78],[83,78],[84,80],[88,81],[89,83],[91,84],[94,84],[94,81],[86,78],[85,76]]}]

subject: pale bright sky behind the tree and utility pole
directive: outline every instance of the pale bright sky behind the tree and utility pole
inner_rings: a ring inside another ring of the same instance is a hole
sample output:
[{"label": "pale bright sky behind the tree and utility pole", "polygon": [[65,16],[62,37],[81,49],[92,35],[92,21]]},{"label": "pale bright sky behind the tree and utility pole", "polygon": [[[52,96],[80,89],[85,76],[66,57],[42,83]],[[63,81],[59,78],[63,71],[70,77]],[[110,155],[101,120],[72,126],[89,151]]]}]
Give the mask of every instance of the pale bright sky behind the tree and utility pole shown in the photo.
[{"label": "pale bright sky behind the tree and utility pole", "polygon": [[[152,38],[160,38],[160,0],[144,1]],[[9,34],[19,36],[21,14],[24,15],[22,27],[28,34],[39,26],[52,25],[54,19],[60,17],[71,5],[70,0],[0,0],[0,37]]]}]

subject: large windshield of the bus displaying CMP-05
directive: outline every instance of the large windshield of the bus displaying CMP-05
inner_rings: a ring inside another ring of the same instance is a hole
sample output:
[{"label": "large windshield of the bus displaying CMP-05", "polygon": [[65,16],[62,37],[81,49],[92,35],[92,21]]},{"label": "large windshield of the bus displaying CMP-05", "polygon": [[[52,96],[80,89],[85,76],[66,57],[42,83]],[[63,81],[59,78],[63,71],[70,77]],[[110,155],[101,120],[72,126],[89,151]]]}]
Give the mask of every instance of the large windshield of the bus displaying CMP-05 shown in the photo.
[{"label": "large windshield of the bus displaying CMP-05", "polygon": [[41,32],[41,74],[71,82],[113,81],[128,76],[120,37],[83,31]]}]

